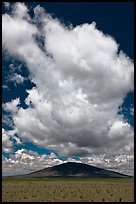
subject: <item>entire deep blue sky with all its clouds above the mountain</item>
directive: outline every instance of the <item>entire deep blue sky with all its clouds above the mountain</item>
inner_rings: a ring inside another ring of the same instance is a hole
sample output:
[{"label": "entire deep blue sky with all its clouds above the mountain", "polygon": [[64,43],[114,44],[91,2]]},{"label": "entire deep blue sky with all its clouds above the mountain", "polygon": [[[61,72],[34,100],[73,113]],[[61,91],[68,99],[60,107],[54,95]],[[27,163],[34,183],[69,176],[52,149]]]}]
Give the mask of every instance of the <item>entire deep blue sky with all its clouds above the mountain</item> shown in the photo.
[{"label": "entire deep blue sky with all its clouds above the mountain", "polygon": [[2,174],[67,161],[134,175],[134,5],[2,4]]}]

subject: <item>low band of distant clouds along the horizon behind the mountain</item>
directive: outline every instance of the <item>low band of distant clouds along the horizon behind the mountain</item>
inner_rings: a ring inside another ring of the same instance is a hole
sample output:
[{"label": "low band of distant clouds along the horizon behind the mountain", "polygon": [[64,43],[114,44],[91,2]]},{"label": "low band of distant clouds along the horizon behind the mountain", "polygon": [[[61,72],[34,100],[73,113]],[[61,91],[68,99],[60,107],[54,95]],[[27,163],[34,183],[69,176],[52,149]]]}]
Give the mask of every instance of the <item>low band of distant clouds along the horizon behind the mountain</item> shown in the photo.
[{"label": "low band of distant clouds along the horizon behind the mountain", "polygon": [[134,175],[134,155],[100,154],[81,157],[80,160],[67,158],[59,159],[54,153],[39,155],[37,152],[19,149],[10,158],[2,157],[2,173],[6,175],[27,174],[65,162],[82,162],[85,164],[105,168],[120,173]]}]

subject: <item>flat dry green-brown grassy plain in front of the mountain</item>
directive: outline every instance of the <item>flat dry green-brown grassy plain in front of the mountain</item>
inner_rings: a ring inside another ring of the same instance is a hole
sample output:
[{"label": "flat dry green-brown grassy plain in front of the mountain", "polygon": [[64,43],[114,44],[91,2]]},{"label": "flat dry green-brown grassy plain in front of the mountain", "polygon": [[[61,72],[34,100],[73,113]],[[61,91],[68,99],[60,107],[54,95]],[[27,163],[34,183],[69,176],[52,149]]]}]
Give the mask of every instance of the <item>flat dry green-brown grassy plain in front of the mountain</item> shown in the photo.
[{"label": "flat dry green-brown grassy plain in front of the mountain", "polygon": [[46,178],[2,181],[2,202],[134,202],[134,179]]}]

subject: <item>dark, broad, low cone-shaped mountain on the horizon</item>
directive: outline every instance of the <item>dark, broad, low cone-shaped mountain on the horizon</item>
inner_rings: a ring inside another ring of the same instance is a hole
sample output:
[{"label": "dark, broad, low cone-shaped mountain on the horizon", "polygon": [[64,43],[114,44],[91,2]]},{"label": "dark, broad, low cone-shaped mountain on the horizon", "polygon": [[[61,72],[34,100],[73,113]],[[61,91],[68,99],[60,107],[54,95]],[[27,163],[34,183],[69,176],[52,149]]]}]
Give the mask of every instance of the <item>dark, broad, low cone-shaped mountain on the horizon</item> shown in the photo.
[{"label": "dark, broad, low cone-shaped mountain on the horizon", "polygon": [[114,171],[101,169],[83,163],[67,162],[57,166],[48,167],[25,177],[46,178],[46,177],[82,177],[82,178],[126,178],[131,177]]}]

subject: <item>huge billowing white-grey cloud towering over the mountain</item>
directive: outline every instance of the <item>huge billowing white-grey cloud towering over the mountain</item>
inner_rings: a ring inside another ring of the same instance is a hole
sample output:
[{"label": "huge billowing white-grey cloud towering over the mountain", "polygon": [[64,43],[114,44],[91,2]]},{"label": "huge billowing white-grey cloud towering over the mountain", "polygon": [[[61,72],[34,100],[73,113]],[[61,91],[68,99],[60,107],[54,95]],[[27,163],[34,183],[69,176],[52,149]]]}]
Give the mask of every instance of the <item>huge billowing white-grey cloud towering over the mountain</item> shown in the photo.
[{"label": "huge billowing white-grey cloud towering over the mountain", "polygon": [[132,153],[134,131],[118,109],[134,89],[133,61],[95,22],[66,27],[40,6],[34,14],[17,3],[2,16],[3,49],[27,65],[36,84],[27,109],[19,99],[5,105],[16,133],[63,156]]}]

